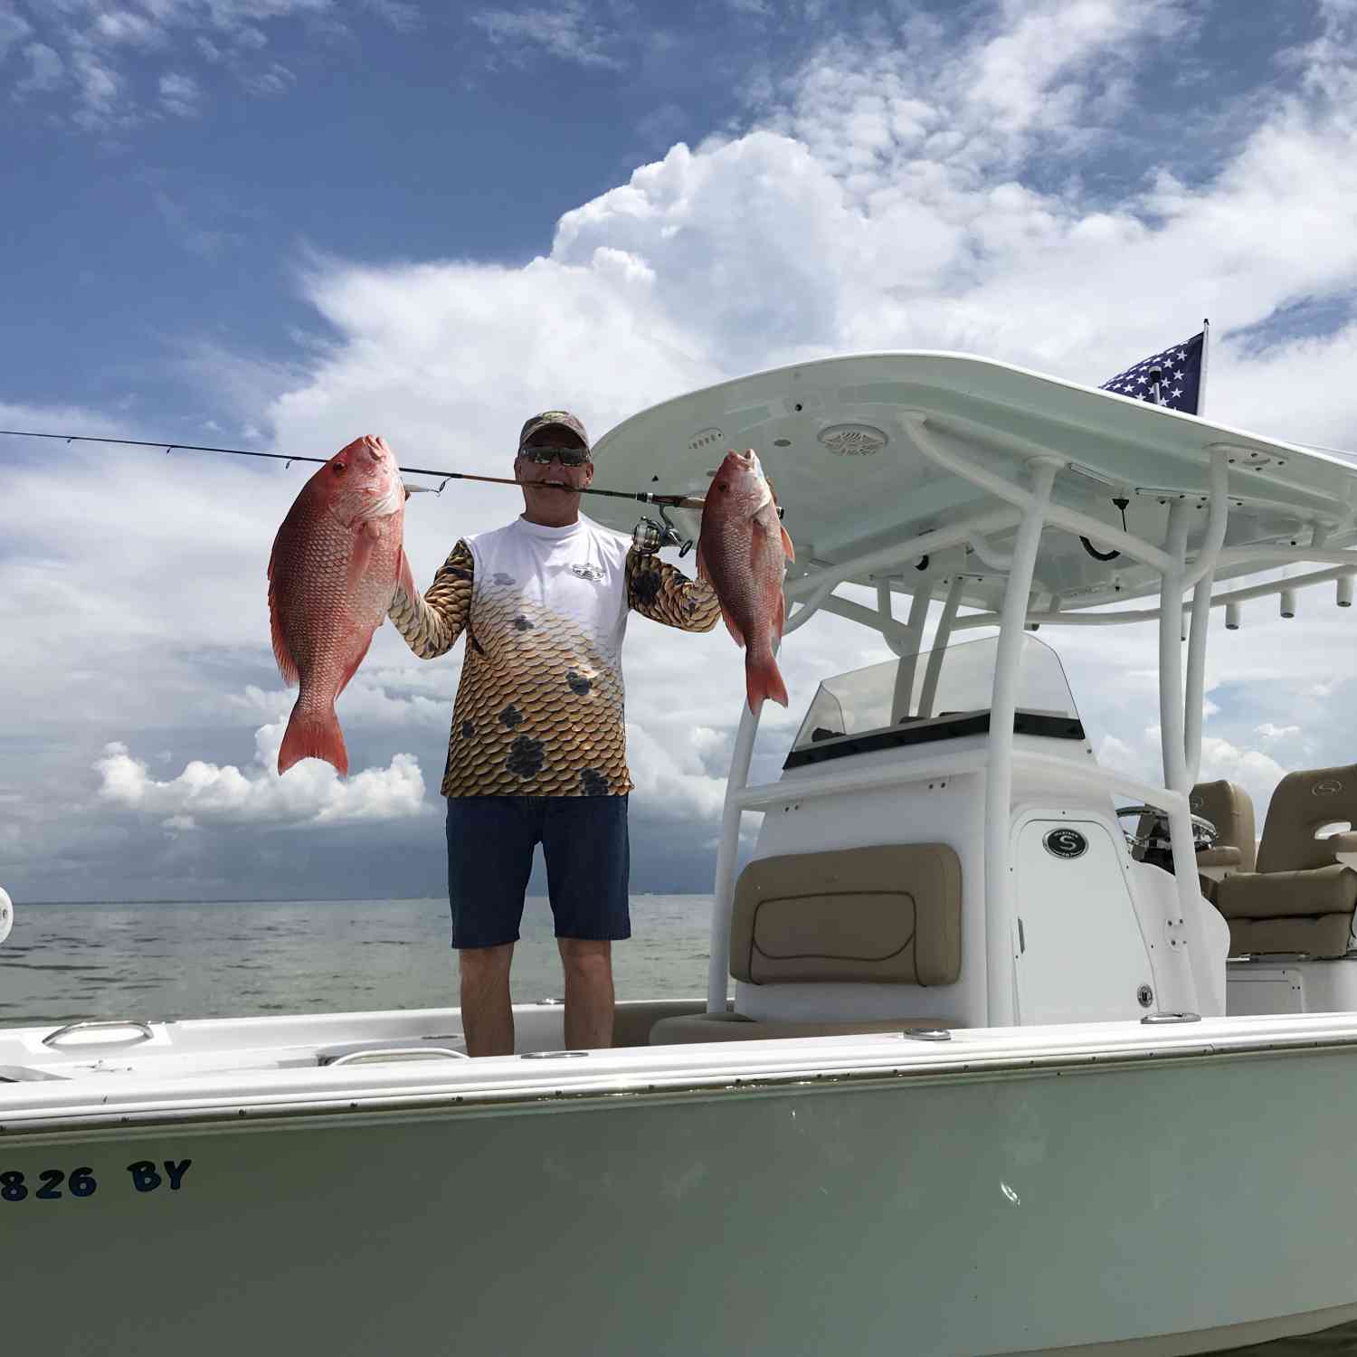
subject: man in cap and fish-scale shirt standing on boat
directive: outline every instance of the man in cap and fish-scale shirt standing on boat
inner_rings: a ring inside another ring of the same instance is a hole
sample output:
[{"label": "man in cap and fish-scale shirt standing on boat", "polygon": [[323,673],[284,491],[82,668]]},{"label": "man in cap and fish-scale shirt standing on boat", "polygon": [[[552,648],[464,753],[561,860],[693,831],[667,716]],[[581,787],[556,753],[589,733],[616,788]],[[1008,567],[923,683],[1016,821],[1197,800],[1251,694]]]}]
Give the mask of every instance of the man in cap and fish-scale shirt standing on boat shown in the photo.
[{"label": "man in cap and fish-scale shirt standing on boat", "polygon": [[452,711],[448,898],[472,1056],[513,1052],[509,968],[541,844],[566,978],[566,1046],[612,1045],[612,943],[627,904],[627,615],[710,631],[710,585],[579,513],[593,480],[584,425],[533,415],[514,476],[524,512],[463,537],[423,594],[398,589],[391,620],[422,660],[467,647]]}]

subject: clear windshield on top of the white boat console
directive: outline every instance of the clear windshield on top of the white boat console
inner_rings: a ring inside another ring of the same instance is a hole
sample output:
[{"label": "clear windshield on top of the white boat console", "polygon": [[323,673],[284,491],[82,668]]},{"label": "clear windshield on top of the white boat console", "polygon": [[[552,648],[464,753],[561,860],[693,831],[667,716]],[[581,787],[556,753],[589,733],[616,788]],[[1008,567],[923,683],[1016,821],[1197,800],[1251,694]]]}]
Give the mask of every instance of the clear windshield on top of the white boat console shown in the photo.
[{"label": "clear windshield on top of the white boat console", "polygon": [[[987,636],[826,678],[801,723],[792,756],[826,741],[847,740],[856,752],[863,748],[860,737],[902,733],[901,727],[912,727],[911,738],[894,738],[887,744],[947,740],[988,730],[997,655],[999,638]],[[1019,730],[1083,738],[1060,657],[1030,634],[1022,638],[1018,660],[1018,712]]]}]

